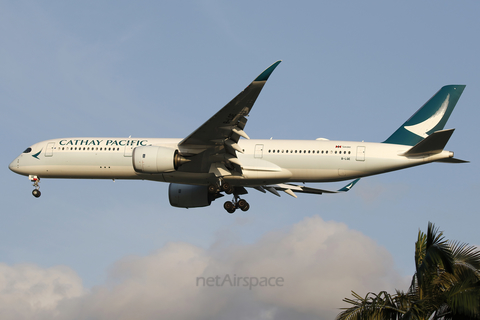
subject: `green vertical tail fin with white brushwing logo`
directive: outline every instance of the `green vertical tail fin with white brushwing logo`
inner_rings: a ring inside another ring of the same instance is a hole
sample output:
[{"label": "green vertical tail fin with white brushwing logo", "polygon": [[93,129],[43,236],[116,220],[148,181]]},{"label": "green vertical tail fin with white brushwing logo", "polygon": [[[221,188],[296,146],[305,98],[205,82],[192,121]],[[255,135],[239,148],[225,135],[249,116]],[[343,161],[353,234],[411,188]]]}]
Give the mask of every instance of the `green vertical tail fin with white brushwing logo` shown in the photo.
[{"label": "green vertical tail fin with white brushwing logo", "polygon": [[464,89],[464,85],[441,88],[384,143],[414,146],[433,132],[443,130]]}]

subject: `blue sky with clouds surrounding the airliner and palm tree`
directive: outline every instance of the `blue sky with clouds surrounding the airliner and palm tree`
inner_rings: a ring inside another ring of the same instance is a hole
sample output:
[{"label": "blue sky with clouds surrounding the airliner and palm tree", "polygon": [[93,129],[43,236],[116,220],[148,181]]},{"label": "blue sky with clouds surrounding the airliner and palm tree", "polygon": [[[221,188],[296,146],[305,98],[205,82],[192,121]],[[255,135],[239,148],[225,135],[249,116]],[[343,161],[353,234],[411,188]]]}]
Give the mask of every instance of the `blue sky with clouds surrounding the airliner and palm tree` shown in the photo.
[{"label": "blue sky with clouds surrounding the airliner and palm tree", "polygon": [[[1,1],[0,280],[13,279],[14,289],[0,295],[10,305],[0,311],[327,319],[351,289],[406,289],[428,221],[449,239],[479,244],[479,9],[474,1]],[[253,190],[251,210],[234,215],[222,201],[172,208],[167,184],[143,181],[45,179],[35,199],[28,179],[7,168],[51,138],[186,137],[279,59],[250,114],[251,138],[383,141],[441,86],[466,84],[447,149],[472,162],[365,178],[343,195]],[[356,244],[358,256],[348,249]],[[199,264],[179,267],[191,257]],[[283,275],[290,287],[195,287],[197,275],[215,272]],[[330,279],[341,289],[333,295],[322,291]],[[178,299],[159,302],[168,297]],[[198,302],[189,309],[185,297]],[[118,299],[128,303],[114,307]],[[217,299],[223,304],[205,307]]]}]

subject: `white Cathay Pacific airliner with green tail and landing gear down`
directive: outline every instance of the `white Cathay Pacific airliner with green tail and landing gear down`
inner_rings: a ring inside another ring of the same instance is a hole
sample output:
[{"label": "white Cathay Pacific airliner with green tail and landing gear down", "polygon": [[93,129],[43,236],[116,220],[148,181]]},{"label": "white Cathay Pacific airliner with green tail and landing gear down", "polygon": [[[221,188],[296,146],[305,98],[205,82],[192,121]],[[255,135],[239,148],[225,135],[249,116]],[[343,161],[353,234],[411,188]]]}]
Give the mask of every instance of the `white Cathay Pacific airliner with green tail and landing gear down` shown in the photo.
[{"label": "white Cathay Pacific airliner with green tail and landing gear down", "polygon": [[[28,147],[9,168],[29,177],[37,198],[40,178],[153,180],[170,183],[174,207],[206,207],[225,193],[232,201],[224,208],[233,213],[250,208],[241,198],[246,188],[295,198],[297,193],[344,193],[362,177],[430,162],[468,162],[444,150],[454,131],[444,126],[465,85],[442,87],[383,142],[250,139],[244,131],[247,117],[280,62],[184,139],[52,139]],[[304,185],[351,179],[336,191]]]}]

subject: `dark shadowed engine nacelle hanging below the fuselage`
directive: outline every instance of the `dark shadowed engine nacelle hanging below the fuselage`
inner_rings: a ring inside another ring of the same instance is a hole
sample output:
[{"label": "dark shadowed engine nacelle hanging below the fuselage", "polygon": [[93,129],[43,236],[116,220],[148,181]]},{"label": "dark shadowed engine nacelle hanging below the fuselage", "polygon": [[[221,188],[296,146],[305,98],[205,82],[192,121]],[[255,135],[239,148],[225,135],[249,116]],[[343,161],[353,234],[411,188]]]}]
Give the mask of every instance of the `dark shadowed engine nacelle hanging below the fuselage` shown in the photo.
[{"label": "dark shadowed engine nacelle hanging below the fuselage", "polygon": [[177,208],[207,207],[214,200],[208,192],[207,186],[194,186],[189,184],[170,183],[168,199],[170,205]]}]

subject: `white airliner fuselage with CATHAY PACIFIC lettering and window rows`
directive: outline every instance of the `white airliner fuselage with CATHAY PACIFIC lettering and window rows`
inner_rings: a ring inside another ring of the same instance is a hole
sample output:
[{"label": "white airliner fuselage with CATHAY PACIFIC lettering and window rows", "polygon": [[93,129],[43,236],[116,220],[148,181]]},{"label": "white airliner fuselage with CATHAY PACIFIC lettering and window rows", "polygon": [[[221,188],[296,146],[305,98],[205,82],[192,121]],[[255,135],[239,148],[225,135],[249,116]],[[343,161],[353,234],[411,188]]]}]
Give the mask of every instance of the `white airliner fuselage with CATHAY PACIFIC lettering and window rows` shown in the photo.
[{"label": "white airliner fuselage with CATHAY PACIFIC lettering and window rows", "polygon": [[[32,145],[10,164],[22,175],[40,178],[139,179],[208,185],[213,173],[178,171],[145,174],[132,165],[132,151],[139,146],[179,149],[181,139],[64,138]],[[402,154],[411,146],[319,140],[240,140],[237,152],[242,174],[224,176],[232,185],[255,186],[281,182],[329,182],[399,170],[453,157],[442,151],[419,157]],[[188,152],[182,150],[180,152]]]}]

